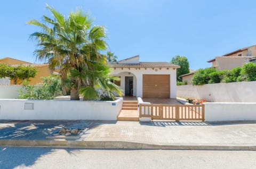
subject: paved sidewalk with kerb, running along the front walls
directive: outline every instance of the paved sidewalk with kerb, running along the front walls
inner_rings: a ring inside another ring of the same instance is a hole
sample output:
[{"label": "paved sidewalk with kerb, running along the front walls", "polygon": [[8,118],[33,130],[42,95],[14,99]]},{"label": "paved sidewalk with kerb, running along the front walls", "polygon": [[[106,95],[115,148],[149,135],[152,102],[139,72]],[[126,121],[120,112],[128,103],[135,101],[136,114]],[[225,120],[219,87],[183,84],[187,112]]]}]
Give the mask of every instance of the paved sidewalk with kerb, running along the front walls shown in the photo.
[{"label": "paved sidewalk with kerb, running along the front walls", "polygon": [[[79,139],[46,139],[63,127]],[[0,146],[256,150],[256,122],[0,121]]]}]

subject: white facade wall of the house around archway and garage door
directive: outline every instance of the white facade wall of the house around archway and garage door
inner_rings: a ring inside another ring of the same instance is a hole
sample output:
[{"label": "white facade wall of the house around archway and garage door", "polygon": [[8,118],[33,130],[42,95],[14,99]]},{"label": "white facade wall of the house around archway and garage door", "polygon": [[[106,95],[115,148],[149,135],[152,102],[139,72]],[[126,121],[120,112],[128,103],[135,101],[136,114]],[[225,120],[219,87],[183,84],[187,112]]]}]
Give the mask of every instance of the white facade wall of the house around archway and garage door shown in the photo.
[{"label": "white facade wall of the house around archway and garage door", "polygon": [[[156,71],[157,70],[157,71]],[[112,69],[112,74],[117,75],[122,72],[131,72],[137,80],[137,85],[134,90],[137,91],[137,94],[135,96],[142,97],[142,87],[143,87],[143,74],[170,74],[170,98],[176,98],[176,69],[173,68],[162,68],[161,70],[159,68],[116,68]],[[121,77],[122,78],[122,77]],[[122,79],[121,79],[122,80]],[[121,81],[122,86],[122,81]],[[135,85],[134,85],[135,86]],[[134,87],[133,86],[133,87]]]}]

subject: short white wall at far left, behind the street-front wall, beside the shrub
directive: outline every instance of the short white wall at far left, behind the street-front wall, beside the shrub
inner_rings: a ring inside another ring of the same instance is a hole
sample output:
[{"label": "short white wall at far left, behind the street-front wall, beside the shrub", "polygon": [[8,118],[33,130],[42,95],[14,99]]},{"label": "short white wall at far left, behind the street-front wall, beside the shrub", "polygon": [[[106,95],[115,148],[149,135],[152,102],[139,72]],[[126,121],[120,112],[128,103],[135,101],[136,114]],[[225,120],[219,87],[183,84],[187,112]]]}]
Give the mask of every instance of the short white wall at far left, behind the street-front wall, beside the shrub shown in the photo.
[{"label": "short white wall at far left, behind the street-front wall, beside the shrub", "polygon": [[0,85],[0,99],[16,99],[19,98],[18,89],[20,85]]}]

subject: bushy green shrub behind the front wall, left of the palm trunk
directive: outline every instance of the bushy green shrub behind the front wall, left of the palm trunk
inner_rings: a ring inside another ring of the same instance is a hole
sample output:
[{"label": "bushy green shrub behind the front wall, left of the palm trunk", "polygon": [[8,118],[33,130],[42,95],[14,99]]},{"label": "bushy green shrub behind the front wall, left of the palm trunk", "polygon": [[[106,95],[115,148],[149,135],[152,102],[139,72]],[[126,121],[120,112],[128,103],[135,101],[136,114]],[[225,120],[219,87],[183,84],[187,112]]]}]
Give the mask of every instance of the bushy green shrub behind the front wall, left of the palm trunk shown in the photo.
[{"label": "bushy green shrub behind the front wall, left of the palm trunk", "polygon": [[[59,77],[51,75],[50,77],[42,77],[42,83],[37,85],[28,85],[28,81],[22,84],[19,90],[21,99],[43,99],[51,100],[61,95],[61,82]],[[25,93],[23,92],[25,90]]]}]

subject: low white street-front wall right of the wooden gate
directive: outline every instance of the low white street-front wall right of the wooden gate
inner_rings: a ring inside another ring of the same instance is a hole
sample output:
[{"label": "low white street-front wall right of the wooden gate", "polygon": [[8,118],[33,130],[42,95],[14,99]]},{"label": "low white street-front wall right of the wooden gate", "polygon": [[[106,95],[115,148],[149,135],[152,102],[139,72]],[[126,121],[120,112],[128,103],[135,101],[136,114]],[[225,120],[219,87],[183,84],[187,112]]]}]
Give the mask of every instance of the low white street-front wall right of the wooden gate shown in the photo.
[{"label": "low white street-front wall right of the wooden gate", "polygon": [[205,103],[205,121],[256,120],[256,103]]}]

